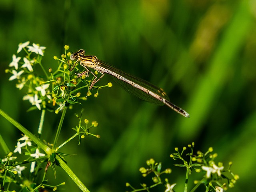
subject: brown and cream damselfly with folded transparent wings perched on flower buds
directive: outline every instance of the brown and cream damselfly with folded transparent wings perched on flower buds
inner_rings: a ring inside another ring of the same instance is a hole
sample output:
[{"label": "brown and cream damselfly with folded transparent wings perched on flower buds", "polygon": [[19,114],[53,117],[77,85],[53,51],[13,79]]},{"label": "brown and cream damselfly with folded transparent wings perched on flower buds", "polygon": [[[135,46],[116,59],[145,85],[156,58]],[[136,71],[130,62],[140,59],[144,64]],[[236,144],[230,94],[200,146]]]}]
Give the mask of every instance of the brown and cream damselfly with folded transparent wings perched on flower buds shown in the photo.
[{"label": "brown and cream damselfly with folded transparent wings perched on flower buds", "polygon": [[[96,56],[85,56],[85,51],[80,49],[79,51],[75,52],[74,54],[70,55],[70,59],[72,61],[76,60],[74,66],[71,70],[74,69],[76,64],[80,62],[80,65],[83,66],[86,70],[80,74],[78,77],[86,75],[89,76],[89,72],[94,75],[94,80],[90,86],[90,89],[98,80],[100,80],[105,73],[112,75],[114,80],[127,92],[133,94],[134,96],[145,100],[147,102],[151,102],[154,104],[164,105],[166,104],[172,110],[176,111],[177,113],[183,115],[184,117],[189,117],[188,112],[183,110],[182,108],[172,104],[169,100],[169,97],[166,95],[162,88],[158,88],[147,82],[141,78],[135,77],[131,74],[123,72],[114,66],[99,60]],[[89,68],[92,68],[102,74],[100,78],[92,73]]]}]

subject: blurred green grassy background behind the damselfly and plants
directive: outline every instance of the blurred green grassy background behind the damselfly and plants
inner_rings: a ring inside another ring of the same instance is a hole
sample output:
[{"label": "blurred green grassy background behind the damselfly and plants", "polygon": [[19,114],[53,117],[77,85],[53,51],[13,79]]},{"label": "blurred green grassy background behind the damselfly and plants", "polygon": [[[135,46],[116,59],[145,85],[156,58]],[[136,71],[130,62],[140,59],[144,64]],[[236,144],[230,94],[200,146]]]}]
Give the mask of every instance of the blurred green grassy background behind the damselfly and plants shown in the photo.
[{"label": "blurred green grassy background behind the damselfly and plants", "polygon": [[[174,147],[191,142],[205,152],[212,146],[218,161],[240,176],[230,191],[255,191],[256,176],[256,1],[255,0],[1,0],[0,108],[36,134],[40,112],[26,112],[26,92],[8,81],[4,70],[18,44],[29,40],[46,46],[43,64],[56,68],[54,55],[80,48],[126,72],[166,90],[171,102],[190,113],[184,118],[167,106],[131,96],[113,83],[68,110],[59,144],[74,134],[74,113],[99,123],[86,137],[62,148],[77,154],[68,165],[92,192],[126,191],[146,182],[138,171],[154,158],[172,168],[170,183],[184,187],[185,170],[174,168]],[[85,93],[84,93],[85,94]],[[46,114],[42,139],[53,141],[61,114]],[[21,133],[1,117],[2,136],[9,148]],[[4,156],[1,151],[1,157]],[[195,175],[192,173],[192,176]],[[49,184],[79,191],[57,168]],[[150,179],[150,178],[149,178]],[[194,178],[198,179],[198,178]],[[192,182],[192,180],[191,180]],[[190,183],[191,189],[194,184]],[[154,191],[154,190],[152,190]],[[158,188],[156,191],[164,191]],[[203,190],[202,190],[203,191]]]}]

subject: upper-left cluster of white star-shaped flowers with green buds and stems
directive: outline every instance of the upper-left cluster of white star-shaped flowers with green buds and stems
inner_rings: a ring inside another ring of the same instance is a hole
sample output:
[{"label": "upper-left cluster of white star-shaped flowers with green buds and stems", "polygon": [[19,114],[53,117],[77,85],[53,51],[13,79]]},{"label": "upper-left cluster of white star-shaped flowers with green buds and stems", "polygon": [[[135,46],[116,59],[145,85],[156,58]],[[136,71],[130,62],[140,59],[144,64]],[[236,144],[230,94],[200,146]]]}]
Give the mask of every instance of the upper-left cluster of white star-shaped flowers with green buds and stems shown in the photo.
[{"label": "upper-left cluster of white star-shaped flowers with green buds and stems", "polygon": [[23,97],[23,100],[28,100],[32,105],[41,110],[43,98],[52,99],[48,90],[50,84],[42,84],[42,80],[34,72],[34,66],[36,64],[41,65],[41,57],[44,56],[46,47],[34,43],[32,46],[29,46],[29,44],[30,42],[27,41],[18,45],[17,54],[24,50],[26,56],[21,58],[13,54],[12,62],[9,64],[10,69],[6,70],[6,72],[12,74],[9,78],[10,81],[18,80],[16,84],[18,89],[21,90],[24,86],[28,88],[28,94]]}]

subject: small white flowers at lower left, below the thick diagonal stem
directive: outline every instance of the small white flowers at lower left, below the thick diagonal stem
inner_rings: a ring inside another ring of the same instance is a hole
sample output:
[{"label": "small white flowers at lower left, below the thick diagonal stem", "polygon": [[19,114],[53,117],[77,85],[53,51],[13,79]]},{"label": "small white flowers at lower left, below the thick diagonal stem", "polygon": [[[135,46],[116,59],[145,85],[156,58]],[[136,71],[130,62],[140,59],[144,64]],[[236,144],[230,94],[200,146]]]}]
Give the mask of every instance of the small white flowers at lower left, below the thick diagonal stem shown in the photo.
[{"label": "small white flowers at lower left, below the thick diagonal stem", "polygon": [[[24,142],[21,143],[20,141],[24,141]],[[26,147],[26,146],[32,146],[32,143],[31,143],[30,138],[28,138],[28,136],[24,135],[22,138],[18,139],[17,146],[13,152],[14,153],[18,152],[19,154],[21,154],[22,147]],[[28,151],[28,149],[26,148],[26,152],[27,151]],[[39,158],[39,157],[45,156],[45,154],[40,153],[39,149],[36,148],[36,152],[33,154],[30,154],[30,156],[34,157],[34,158]],[[12,157],[12,158],[16,158],[16,157]],[[35,162],[31,163],[31,167],[30,167],[31,173],[34,172],[35,165],[36,165]],[[14,168],[14,170],[16,170],[18,172],[18,175],[21,176],[21,171],[23,171],[25,168],[26,168],[25,166],[16,166],[16,168]]]}]

